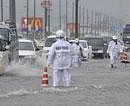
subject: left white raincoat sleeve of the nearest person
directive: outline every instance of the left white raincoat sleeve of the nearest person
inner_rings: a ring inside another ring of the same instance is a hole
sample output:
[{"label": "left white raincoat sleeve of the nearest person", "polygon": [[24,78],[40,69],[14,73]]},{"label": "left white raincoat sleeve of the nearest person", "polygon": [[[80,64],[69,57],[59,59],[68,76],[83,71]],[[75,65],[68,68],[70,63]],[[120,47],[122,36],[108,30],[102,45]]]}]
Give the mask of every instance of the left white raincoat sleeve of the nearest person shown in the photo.
[{"label": "left white raincoat sleeve of the nearest person", "polygon": [[48,54],[48,65],[52,65],[55,59],[55,45],[53,44],[49,50]]}]

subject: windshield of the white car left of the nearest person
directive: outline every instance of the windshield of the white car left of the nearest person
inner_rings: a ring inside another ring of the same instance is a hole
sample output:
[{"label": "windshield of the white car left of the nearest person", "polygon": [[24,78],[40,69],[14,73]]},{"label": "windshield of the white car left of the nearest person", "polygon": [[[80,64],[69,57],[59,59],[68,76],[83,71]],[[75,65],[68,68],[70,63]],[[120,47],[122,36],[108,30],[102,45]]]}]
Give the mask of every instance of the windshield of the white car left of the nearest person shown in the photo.
[{"label": "windshield of the white car left of the nearest person", "polygon": [[19,42],[19,50],[34,51],[32,42]]}]

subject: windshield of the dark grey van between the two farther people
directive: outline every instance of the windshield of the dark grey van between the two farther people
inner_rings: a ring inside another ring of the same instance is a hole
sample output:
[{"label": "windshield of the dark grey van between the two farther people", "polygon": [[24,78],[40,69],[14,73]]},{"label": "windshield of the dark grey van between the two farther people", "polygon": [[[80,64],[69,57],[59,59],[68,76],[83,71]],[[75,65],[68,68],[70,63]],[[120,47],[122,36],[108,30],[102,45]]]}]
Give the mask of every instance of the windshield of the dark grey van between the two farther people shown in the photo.
[{"label": "windshield of the dark grey van between the two farther people", "polygon": [[104,45],[103,39],[87,38],[86,40],[88,41],[88,44],[90,46],[103,46]]}]

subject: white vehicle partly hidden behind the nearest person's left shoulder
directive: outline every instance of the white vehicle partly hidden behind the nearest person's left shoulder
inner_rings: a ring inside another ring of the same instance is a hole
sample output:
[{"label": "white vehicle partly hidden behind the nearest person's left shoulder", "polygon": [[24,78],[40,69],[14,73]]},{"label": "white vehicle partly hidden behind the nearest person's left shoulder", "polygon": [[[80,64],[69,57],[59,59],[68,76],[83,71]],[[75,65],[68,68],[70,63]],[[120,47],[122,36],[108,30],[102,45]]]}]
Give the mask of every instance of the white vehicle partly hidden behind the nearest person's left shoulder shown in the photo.
[{"label": "white vehicle partly hidden behind the nearest person's left shoulder", "polygon": [[56,35],[50,35],[46,38],[45,44],[43,47],[43,53],[44,55],[46,55],[46,57],[48,57],[49,49],[52,46],[52,44],[55,42],[56,42]]}]

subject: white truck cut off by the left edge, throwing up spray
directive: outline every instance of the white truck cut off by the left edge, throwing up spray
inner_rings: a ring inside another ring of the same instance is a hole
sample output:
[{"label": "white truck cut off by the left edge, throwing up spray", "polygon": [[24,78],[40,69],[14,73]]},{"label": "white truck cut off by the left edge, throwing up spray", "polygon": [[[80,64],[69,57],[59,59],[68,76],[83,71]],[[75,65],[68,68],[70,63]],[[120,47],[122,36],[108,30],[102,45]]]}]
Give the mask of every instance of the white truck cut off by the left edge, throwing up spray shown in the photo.
[{"label": "white truck cut off by the left edge, throwing up spray", "polygon": [[17,57],[17,31],[8,22],[0,22],[0,75],[5,67]]}]

